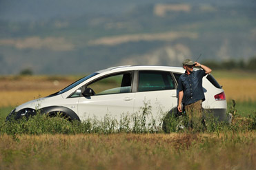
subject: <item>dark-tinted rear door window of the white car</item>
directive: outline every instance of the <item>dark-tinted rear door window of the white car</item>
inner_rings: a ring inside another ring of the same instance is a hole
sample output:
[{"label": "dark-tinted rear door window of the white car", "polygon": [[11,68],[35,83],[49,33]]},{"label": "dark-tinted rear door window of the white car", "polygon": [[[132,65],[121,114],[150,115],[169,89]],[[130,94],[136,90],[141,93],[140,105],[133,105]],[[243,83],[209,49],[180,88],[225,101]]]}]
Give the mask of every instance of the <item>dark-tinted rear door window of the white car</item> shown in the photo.
[{"label": "dark-tinted rear door window of the white car", "polygon": [[140,71],[139,92],[175,89],[175,83],[170,72]]}]

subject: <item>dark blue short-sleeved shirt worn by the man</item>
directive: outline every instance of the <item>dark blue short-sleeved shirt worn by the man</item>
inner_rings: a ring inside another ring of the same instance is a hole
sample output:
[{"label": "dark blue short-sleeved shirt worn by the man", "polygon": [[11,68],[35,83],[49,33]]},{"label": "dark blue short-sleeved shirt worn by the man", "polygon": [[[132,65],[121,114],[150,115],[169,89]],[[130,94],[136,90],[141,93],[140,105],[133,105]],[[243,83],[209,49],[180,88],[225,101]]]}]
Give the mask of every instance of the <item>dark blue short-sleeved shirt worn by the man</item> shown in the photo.
[{"label": "dark blue short-sleeved shirt worn by the man", "polygon": [[205,100],[204,89],[202,86],[204,76],[206,76],[204,70],[197,70],[191,72],[189,75],[185,72],[185,74],[182,74],[179,77],[178,90],[179,92],[184,92],[182,98],[182,103],[184,105],[195,103],[198,100]]}]

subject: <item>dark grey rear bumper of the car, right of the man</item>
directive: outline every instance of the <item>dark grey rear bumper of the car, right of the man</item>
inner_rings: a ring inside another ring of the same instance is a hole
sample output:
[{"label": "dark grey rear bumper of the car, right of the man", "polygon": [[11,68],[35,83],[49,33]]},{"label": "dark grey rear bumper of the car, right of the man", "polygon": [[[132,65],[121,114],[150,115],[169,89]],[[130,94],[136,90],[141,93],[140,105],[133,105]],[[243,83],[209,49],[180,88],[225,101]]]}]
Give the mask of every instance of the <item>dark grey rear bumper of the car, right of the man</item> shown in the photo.
[{"label": "dark grey rear bumper of the car, right of the man", "polygon": [[219,121],[231,123],[232,114],[227,114],[226,109],[204,109],[204,116],[207,114],[213,114]]}]

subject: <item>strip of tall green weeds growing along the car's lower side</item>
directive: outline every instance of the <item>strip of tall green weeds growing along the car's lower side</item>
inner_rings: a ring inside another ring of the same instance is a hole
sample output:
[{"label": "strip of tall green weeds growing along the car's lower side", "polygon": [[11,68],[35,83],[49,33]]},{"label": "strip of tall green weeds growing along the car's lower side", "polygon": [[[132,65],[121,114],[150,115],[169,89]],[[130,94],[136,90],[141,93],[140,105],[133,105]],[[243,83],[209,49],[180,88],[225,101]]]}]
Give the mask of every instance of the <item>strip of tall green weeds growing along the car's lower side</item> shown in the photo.
[{"label": "strip of tall green weeds growing along the car's lower side", "polygon": [[37,114],[19,120],[12,118],[7,122],[5,118],[0,117],[0,134],[8,134],[15,138],[15,136],[21,134],[221,133],[226,131],[237,133],[256,129],[256,114],[252,114],[250,118],[235,116],[233,123],[230,125],[217,121],[217,118],[210,113],[206,114],[205,120],[206,123],[203,124],[201,119],[195,119],[193,129],[190,129],[186,116],[176,116],[169,113],[168,116],[154,118],[148,108],[131,115],[122,114],[120,120],[108,114],[101,119],[88,118],[83,122],[78,120],[69,121],[62,118],[61,114],[53,118],[46,114]]}]

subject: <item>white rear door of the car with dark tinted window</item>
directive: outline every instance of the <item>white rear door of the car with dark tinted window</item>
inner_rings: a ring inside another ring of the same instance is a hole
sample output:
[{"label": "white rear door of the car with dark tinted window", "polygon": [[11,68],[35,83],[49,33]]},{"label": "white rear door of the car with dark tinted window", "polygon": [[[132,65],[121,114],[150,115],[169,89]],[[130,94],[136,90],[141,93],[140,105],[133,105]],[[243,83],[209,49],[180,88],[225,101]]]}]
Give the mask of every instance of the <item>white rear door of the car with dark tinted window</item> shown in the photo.
[{"label": "white rear door of the car with dark tinted window", "polygon": [[177,107],[177,86],[170,72],[139,71],[137,80],[135,111],[147,105],[157,116]]}]

